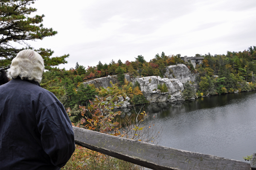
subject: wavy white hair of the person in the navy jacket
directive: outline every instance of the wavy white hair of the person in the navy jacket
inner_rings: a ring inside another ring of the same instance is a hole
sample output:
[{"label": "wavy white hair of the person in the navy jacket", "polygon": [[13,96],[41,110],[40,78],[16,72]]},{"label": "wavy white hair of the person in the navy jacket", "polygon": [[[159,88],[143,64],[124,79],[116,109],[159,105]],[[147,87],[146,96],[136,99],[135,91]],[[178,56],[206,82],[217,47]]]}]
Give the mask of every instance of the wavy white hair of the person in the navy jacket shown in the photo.
[{"label": "wavy white hair of the person in the navy jacket", "polygon": [[41,55],[31,49],[25,49],[12,60],[8,76],[12,78],[20,76],[21,79],[34,80],[40,83],[43,72],[44,60]]}]

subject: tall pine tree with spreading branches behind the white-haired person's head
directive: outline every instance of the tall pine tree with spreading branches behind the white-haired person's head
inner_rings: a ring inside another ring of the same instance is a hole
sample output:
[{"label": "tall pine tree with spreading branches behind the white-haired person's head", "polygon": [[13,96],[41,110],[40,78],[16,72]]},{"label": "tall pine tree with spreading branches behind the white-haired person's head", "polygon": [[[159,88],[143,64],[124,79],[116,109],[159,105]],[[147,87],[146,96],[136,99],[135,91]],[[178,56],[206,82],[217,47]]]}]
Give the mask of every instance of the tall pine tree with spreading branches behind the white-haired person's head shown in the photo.
[{"label": "tall pine tree with spreading branches behind the white-haired person's head", "polygon": [[[0,1],[0,69],[8,69],[12,59],[23,49],[33,49],[24,40],[42,40],[44,37],[56,35],[57,32],[52,28],[45,28],[42,24],[44,14],[30,17],[32,12],[37,9],[30,7],[35,0],[1,0]],[[18,49],[15,43],[24,45]],[[61,63],[67,63],[65,58],[52,56],[51,49],[35,50],[44,58],[45,69],[57,69]]]}]

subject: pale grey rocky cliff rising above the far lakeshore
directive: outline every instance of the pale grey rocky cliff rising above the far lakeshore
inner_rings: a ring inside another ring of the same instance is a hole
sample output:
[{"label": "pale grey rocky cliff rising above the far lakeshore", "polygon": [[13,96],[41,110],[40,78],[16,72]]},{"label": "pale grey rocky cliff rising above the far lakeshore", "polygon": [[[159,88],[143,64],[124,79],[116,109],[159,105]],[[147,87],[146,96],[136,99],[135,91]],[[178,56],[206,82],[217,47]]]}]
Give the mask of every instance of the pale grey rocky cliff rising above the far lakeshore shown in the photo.
[{"label": "pale grey rocky cliff rising above the far lakeshore", "polygon": [[[184,64],[166,67],[166,78],[160,76],[149,76],[142,78],[131,78],[125,75],[128,81],[133,84],[137,81],[140,84],[140,90],[143,92],[144,97],[149,102],[163,102],[163,101],[183,101],[182,91],[184,90],[183,84],[188,81],[194,81],[196,74],[192,74]],[[108,76],[105,78],[96,78],[92,81],[87,81],[84,84],[94,84],[95,87],[108,87],[118,82],[116,75]],[[166,84],[168,92],[160,92],[157,89],[158,84]]]}]

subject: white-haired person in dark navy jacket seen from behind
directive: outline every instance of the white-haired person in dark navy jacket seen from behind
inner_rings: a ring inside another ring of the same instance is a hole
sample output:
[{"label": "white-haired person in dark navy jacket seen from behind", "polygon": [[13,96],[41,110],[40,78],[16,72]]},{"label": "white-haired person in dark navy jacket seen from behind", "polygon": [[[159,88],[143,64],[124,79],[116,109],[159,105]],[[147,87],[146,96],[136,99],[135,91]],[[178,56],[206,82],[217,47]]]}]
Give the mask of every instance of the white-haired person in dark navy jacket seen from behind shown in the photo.
[{"label": "white-haired person in dark navy jacket seen from behind", "polygon": [[43,70],[41,55],[23,50],[0,86],[0,170],[60,170],[75,150],[63,105],[39,85]]}]

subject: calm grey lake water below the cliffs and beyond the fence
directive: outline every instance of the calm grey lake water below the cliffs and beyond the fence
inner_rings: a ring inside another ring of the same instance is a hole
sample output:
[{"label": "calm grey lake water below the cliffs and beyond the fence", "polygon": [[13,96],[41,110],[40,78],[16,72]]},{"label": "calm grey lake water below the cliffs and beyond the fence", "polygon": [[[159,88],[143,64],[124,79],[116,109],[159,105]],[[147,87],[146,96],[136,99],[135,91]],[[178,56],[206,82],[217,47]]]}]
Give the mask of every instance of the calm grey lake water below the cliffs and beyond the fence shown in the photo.
[{"label": "calm grey lake water below the cliffs and beyond the fence", "polygon": [[256,153],[256,91],[145,107],[159,145],[244,161]]}]

